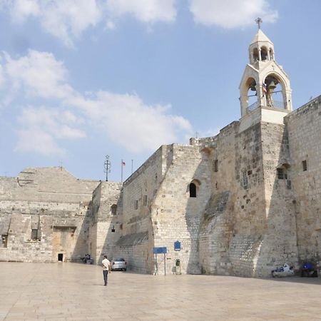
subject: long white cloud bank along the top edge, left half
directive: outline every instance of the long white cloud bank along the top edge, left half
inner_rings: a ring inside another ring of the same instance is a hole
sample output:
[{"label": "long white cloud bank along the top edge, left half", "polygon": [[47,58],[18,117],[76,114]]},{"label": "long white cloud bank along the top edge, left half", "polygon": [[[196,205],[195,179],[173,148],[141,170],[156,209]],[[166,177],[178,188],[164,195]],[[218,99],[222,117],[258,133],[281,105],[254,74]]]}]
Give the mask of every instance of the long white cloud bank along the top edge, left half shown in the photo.
[{"label": "long white cloud bank along the top edge, left half", "polygon": [[148,24],[173,22],[176,16],[175,0],[0,0],[0,10],[18,24],[39,20],[44,31],[70,47],[103,20],[107,29],[114,29],[113,19],[123,15]]}]

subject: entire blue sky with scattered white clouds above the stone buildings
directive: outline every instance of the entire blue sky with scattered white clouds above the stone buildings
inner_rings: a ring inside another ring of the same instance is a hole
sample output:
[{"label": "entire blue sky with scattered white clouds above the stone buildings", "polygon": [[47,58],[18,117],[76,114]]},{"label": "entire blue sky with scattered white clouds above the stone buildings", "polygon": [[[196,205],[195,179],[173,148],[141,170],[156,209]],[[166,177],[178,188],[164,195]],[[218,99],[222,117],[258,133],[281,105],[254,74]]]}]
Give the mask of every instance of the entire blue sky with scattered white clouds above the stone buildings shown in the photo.
[{"label": "entire blue sky with scattered white clouds above the stone buildings", "polygon": [[321,94],[319,0],[0,0],[0,176],[123,180],[163,144],[240,118],[258,31],[292,108]]}]

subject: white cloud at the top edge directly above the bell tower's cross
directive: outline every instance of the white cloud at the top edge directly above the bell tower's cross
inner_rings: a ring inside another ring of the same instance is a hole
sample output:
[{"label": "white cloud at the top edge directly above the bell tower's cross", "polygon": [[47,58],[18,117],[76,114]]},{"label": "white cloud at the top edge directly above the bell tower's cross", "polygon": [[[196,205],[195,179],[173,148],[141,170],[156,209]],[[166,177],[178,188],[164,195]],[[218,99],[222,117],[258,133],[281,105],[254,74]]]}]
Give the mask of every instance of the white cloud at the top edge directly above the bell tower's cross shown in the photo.
[{"label": "white cloud at the top edge directly above the bell tower's cross", "polygon": [[277,19],[267,0],[190,0],[190,11],[198,24],[227,29],[254,24],[258,16],[266,22]]}]

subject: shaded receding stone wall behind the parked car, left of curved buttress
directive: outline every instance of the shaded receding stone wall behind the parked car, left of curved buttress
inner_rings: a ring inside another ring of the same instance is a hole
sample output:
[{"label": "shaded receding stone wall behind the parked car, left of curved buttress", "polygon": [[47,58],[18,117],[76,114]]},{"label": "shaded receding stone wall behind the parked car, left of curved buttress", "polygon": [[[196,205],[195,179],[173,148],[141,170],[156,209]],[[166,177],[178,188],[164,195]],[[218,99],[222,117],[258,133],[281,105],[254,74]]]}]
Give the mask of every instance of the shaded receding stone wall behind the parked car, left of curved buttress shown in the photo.
[{"label": "shaded receding stone wall behind the parked car, left of curved buttress", "polygon": [[123,183],[121,237],[112,255],[125,258],[136,272],[153,272],[151,206],[169,159],[168,146],[161,146]]}]

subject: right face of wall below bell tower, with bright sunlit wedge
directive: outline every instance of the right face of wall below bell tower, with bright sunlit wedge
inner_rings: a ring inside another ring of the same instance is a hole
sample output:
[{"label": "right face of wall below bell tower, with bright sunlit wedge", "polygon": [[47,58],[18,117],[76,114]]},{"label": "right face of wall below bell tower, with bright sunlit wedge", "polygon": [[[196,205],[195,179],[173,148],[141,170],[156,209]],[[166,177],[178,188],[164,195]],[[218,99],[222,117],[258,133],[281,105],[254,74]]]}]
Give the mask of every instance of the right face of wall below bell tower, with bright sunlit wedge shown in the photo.
[{"label": "right face of wall below bell tower, with bright sunlit wedge", "polygon": [[[284,263],[297,268],[295,196],[292,190],[290,148],[285,125],[262,123],[266,232],[258,260],[258,276]],[[277,168],[283,171],[278,177]]]}]

